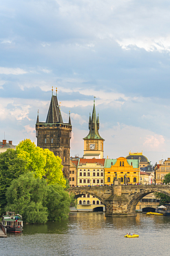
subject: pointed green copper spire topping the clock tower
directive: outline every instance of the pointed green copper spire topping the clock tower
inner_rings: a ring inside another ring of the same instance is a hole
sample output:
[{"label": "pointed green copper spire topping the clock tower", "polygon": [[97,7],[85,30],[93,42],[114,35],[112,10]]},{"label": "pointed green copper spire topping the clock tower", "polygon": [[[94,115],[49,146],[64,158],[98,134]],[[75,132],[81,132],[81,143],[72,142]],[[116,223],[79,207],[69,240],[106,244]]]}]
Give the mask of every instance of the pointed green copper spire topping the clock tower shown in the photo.
[{"label": "pointed green copper spire topping the clock tower", "polygon": [[99,140],[104,140],[103,138],[100,137],[98,133],[99,129],[99,118],[96,118],[96,107],[95,107],[95,98],[94,97],[94,107],[92,111],[92,118],[89,115],[89,134],[84,138],[84,139],[99,139]]}]

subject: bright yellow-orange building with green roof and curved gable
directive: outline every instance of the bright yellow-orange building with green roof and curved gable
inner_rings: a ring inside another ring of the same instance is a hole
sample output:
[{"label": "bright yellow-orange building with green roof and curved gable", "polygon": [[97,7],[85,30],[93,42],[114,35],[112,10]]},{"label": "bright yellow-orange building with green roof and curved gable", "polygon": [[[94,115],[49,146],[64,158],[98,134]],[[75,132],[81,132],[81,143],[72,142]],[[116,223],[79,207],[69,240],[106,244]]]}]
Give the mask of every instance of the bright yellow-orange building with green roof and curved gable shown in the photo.
[{"label": "bright yellow-orange building with green roof and curved gable", "polygon": [[105,185],[114,183],[114,178],[120,179],[123,184],[125,174],[129,184],[140,183],[140,169],[138,159],[127,159],[119,157],[117,159],[105,160]]}]

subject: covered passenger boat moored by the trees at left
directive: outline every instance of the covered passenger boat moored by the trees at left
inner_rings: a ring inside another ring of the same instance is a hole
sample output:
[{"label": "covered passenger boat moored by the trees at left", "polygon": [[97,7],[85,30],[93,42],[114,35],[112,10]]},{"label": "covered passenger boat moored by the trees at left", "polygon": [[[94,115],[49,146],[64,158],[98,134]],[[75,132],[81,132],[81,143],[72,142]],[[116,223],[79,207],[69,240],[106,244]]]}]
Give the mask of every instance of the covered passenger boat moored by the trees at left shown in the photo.
[{"label": "covered passenger boat moored by the trees at left", "polygon": [[14,212],[6,212],[2,217],[1,225],[6,228],[7,232],[19,233],[23,231],[22,216]]}]

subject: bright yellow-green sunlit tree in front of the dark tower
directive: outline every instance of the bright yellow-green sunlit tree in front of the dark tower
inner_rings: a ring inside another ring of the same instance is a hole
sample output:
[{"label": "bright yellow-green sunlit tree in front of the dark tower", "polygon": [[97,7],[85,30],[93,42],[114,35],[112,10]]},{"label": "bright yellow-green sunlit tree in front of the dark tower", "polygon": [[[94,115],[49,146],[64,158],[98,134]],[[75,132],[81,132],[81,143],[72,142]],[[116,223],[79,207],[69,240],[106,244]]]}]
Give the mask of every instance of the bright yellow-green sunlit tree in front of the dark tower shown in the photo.
[{"label": "bright yellow-green sunlit tree in front of the dark tower", "polygon": [[27,168],[34,172],[35,177],[45,179],[47,184],[58,183],[65,188],[61,158],[55,156],[49,149],[36,147],[30,139],[25,139],[16,148],[18,156],[27,161]]}]

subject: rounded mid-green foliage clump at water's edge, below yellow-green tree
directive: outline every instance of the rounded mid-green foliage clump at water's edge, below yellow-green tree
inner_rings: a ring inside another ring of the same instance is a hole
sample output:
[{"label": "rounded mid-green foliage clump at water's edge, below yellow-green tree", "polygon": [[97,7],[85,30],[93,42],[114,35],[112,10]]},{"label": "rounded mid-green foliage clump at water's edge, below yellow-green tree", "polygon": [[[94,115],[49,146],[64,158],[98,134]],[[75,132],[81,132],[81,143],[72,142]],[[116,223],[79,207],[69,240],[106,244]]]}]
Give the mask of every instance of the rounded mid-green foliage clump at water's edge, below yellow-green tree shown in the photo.
[{"label": "rounded mid-green foliage clump at water's edge, below yellow-green tree", "polygon": [[70,195],[62,185],[46,185],[44,179],[35,179],[32,172],[12,181],[6,197],[6,210],[18,212],[28,223],[66,219],[70,211]]}]

